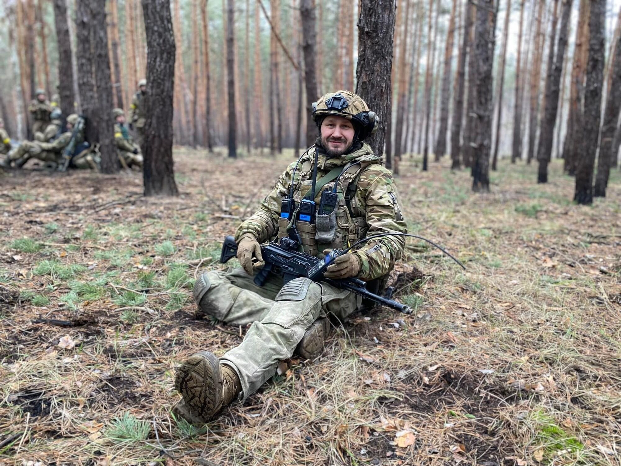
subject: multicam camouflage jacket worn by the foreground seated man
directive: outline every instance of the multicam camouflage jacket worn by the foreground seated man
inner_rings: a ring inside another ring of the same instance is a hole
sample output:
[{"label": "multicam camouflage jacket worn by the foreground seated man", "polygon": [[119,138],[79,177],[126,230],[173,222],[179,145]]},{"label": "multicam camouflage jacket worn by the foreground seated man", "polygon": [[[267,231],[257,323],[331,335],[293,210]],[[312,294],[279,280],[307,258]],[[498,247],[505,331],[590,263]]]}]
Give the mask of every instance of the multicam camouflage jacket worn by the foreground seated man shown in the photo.
[{"label": "multicam camouflage jacket worn by the foreground seated man", "polygon": [[[265,242],[273,239],[279,231],[282,235],[283,226],[287,222],[283,223],[283,219],[279,218],[281,200],[288,196],[291,180],[294,180],[293,192],[297,205],[309,193],[315,149],[319,150],[317,180],[335,167],[344,167],[345,171],[337,181],[327,183],[321,190],[332,190],[334,184],[338,183],[339,203],[333,242],[306,244],[309,235],[311,239],[314,239],[314,230],[308,233],[306,222],[296,223],[302,235],[302,242],[305,243],[306,252],[322,257],[321,253],[324,249],[348,247],[367,235],[407,232],[392,173],[383,166],[380,158],[373,154],[369,145],[363,144],[357,150],[340,157],[329,157],[320,145],[314,145],[302,155],[295,173],[296,162],[293,162],[278,178],[276,186],[263,199],[260,208],[237,229],[236,240],[245,234],[252,234],[258,242]],[[321,191],[315,193],[317,206],[321,199]],[[304,231],[307,232],[306,238]],[[387,236],[373,239],[356,248],[354,254],[360,258],[361,262],[358,277],[363,280],[373,280],[386,275],[392,269],[394,262],[401,258],[404,244],[404,237]]]}]

